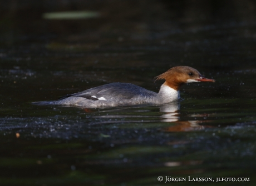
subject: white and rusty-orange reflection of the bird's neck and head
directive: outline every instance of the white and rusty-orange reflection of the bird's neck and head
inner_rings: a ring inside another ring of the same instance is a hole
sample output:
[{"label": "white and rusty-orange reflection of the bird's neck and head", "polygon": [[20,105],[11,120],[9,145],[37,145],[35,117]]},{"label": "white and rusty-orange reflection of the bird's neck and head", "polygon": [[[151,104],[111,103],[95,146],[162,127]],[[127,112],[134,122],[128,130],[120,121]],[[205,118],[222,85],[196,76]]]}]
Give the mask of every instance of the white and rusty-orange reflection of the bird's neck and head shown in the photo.
[{"label": "white and rusty-orange reflection of the bird's neck and head", "polygon": [[[175,125],[166,127],[163,130],[165,132],[185,132],[185,131],[191,131],[191,130],[201,130],[204,128],[210,128],[212,126],[209,125],[200,125],[204,122],[210,122],[209,120],[186,120],[182,121],[180,120],[180,103],[172,103],[168,105],[161,105],[160,106],[160,112],[164,113],[160,117],[161,122],[171,122]],[[190,117],[205,117],[205,114],[201,115],[190,115]]]}]

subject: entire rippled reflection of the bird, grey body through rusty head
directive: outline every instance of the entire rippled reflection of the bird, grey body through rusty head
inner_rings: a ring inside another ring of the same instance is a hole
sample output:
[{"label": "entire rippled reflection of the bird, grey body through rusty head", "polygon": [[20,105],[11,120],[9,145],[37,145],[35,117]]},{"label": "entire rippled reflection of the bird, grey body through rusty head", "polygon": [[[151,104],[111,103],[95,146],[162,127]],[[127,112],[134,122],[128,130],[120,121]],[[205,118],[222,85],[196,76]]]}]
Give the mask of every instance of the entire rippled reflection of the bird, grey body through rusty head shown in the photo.
[{"label": "entire rippled reflection of the bird, grey body through rusty head", "polygon": [[[201,130],[204,128],[210,128],[212,126],[209,125],[201,125],[205,122],[210,122],[210,120],[203,120],[203,117],[209,116],[209,114],[191,114],[191,115],[182,115],[180,114],[180,103],[172,102],[170,104],[158,105],[160,110],[154,111],[160,115],[160,121],[170,123],[170,127],[165,127],[162,130],[165,132],[185,132],[191,130]],[[140,109],[142,108],[142,109]],[[118,124],[118,123],[150,123],[150,122],[159,122],[159,116],[154,114],[126,114],[126,110],[130,109],[130,113],[147,113],[151,112],[150,109],[146,108],[145,105],[138,105],[132,107],[119,107],[119,108],[111,108],[111,109],[102,109],[102,110],[93,110],[83,108],[86,113],[97,112],[99,115],[92,115],[91,118],[102,118],[102,120],[93,120],[91,125],[93,124]],[[155,108],[155,106],[151,106],[150,108]],[[102,114],[107,112],[107,114]],[[202,118],[201,120],[181,120],[180,117],[191,117],[191,118]],[[103,119],[104,118],[104,119]],[[108,119],[107,119],[108,118]],[[132,118],[132,119],[131,119]],[[152,119],[154,118],[154,119]],[[115,120],[113,120],[115,119]]]}]

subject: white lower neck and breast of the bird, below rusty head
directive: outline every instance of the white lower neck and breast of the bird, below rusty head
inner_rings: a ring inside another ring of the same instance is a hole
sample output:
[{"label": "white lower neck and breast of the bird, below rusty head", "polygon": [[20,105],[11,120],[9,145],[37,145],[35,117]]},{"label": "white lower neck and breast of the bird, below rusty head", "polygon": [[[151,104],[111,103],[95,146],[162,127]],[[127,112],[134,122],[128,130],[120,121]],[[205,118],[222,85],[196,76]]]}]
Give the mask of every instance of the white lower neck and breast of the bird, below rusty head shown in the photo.
[{"label": "white lower neck and breast of the bird, below rusty head", "polygon": [[180,98],[180,92],[163,84],[157,94],[157,98],[160,104],[170,103]]}]

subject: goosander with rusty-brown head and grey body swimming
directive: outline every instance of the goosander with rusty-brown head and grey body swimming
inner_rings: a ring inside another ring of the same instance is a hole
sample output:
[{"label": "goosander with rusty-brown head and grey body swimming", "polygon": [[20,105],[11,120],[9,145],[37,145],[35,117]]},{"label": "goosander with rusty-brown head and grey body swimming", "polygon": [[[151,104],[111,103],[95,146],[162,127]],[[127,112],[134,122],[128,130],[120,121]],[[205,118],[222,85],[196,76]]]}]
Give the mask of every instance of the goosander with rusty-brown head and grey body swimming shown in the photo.
[{"label": "goosander with rusty-brown head and grey body swimming", "polygon": [[204,78],[196,69],[188,66],[170,68],[156,77],[164,79],[159,93],[130,83],[110,83],[68,94],[58,100],[34,102],[39,105],[74,105],[85,108],[117,107],[136,104],[165,104],[180,98],[180,86],[192,82],[215,82]]}]

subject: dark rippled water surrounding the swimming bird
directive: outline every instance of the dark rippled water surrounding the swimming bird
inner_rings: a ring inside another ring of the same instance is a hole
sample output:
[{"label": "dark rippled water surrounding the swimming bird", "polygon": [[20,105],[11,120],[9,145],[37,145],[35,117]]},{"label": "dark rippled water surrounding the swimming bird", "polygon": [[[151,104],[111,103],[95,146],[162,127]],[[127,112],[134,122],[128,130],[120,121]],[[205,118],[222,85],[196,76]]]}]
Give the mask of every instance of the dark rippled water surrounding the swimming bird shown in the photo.
[{"label": "dark rippled water surrounding the swimming bird", "polygon": [[[254,185],[256,4],[209,2],[3,1],[1,185]],[[100,16],[42,18],[85,9]],[[31,104],[111,82],[157,92],[179,65],[216,83],[164,106]]]}]

